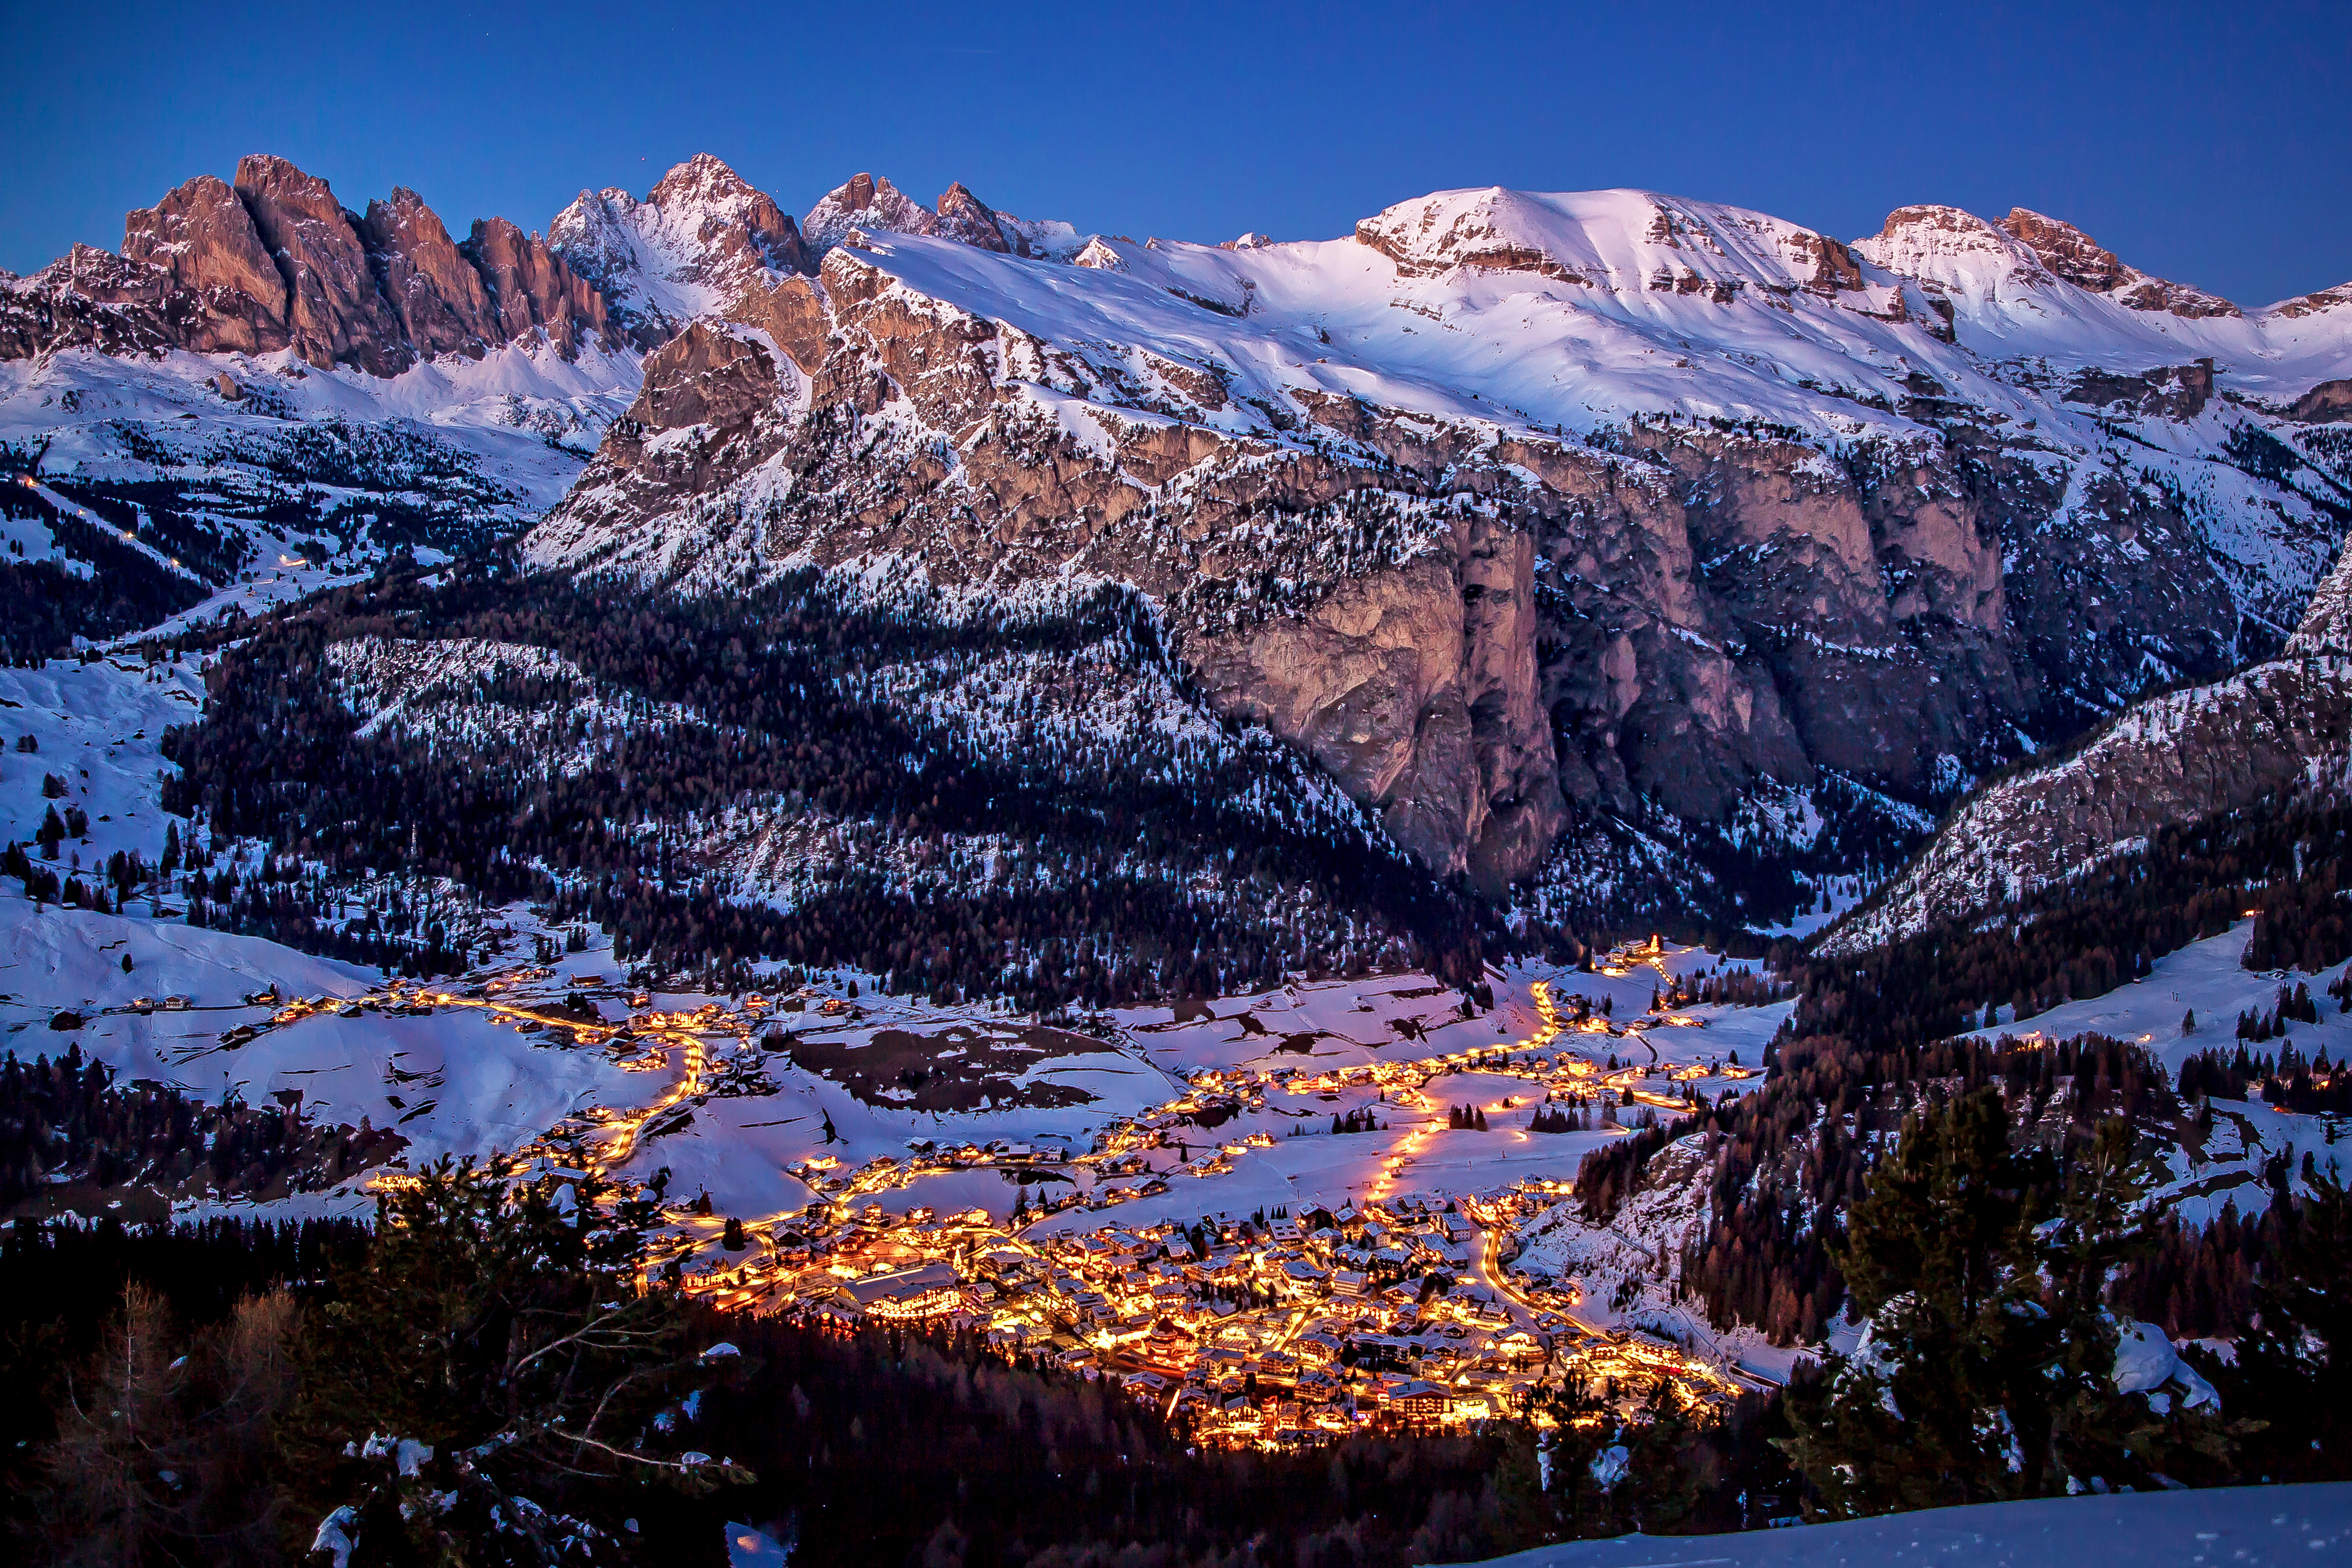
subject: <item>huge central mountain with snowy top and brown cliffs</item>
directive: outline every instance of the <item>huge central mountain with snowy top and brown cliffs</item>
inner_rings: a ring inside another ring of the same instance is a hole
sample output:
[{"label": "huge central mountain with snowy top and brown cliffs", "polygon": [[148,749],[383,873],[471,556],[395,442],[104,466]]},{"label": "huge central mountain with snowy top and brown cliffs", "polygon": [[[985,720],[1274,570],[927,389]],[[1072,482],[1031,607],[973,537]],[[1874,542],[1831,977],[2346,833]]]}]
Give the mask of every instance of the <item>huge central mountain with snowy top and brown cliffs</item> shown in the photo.
[{"label": "huge central mountain with snowy top and brown cliffs", "polygon": [[2352,310],[2091,292],[1950,209],[1844,244],[1456,190],[1345,240],[1058,266],[854,181],[809,235],[814,277],[656,360],[534,559],[1134,583],[1221,710],[1486,886],[1581,818],[1736,860],[1766,816],[1809,851],[1825,778],[1933,809],[2274,649],[2352,515],[2310,418]]}]

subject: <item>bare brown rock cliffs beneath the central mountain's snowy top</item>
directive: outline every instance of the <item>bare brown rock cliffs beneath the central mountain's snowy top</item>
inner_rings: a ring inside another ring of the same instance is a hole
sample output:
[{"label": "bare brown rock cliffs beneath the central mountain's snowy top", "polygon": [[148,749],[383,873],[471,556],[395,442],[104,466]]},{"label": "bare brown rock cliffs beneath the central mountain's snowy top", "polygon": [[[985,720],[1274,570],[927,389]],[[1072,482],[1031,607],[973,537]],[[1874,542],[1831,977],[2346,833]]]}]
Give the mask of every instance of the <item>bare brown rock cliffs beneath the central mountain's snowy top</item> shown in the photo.
[{"label": "bare brown rock cliffs beneath the central mountain's snowy top", "polygon": [[[1305,395],[1312,442],[1242,435],[1204,423],[1225,376],[1080,362],[854,237],[734,315],[757,334],[656,355],[539,559],[689,590],[880,557],[1134,583],[1223,712],[1486,889],[1531,875],[1571,804],[1717,820],[1820,769],[1929,792],[2060,679],[2140,658],[2070,635],[2070,670],[2034,663],[2016,623],[2065,611],[2016,602],[2016,498],[1950,447],[1839,465],[1637,421],[1606,449]],[[1101,442],[1040,386],[1084,388]]]}]

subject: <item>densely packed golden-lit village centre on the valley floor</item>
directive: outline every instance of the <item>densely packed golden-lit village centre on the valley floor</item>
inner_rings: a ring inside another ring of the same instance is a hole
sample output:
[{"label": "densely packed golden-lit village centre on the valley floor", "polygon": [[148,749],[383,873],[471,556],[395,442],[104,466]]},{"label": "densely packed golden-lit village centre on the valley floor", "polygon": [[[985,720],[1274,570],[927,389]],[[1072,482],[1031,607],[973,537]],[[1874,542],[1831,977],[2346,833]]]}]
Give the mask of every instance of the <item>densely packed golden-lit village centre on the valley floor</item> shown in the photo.
[{"label": "densely packed golden-lit village centre on the valley floor", "polygon": [[[983,1333],[1004,1354],[1115,1378],[1211,1443],[1548,1420],[1543,1392],[1566,1378],[1625,1403],[1672,1380],[1686,1399],[1717,1406],[1752,1378],[1639,1333],[1595,1331],[1578,1319],[1573,1281],[1508,1272],[1517,1232],[1564,1201],[1566,1180],[1526,1175],[1456,1197],[1414,1182],[1435,1140],[1486,1117],[1618,1128],[1740,1093],[1755,1077],[1729,1063],[1616,1065],[1606,1044],[1625,1048],[1635,1034],[1581,999],[1555,1004],[1543,983],[1536,999],[1545,1023],[1517,1046],[1324,1072],[1204,1067],[1190,1093],[1112,1121],[1084,1150],[917,1140],[906,1157],[854,1168],[807,1159],[793,1175],[818,1199],[800,1211],[748,1225],[682,1215],[682,1279],[734,1309]],[[1571,1039],[1604,1046],[1606,1065]],[[1496,1081],[1519,1093],[1475,1100]],[[1214,1128],[1270,1100],[1317,1117],[1341,1105],[1331,1135],[1378,1138],[1388,1152],[1369,1187],[1298,1213],[1230,1213],[1216,1178],[1277,1140],[1265,1131],[1221,1140]],[[1451,1128],[1449,1112],[1463,1126]],[[875,1201],[948,1171],[1021,1182],[1009,1220],[988,1208],[891,1213]],[[1061,1197],[1033,1204],[1030,1182]],[[1190,1222],[1117,1222],[1122,1206],[1188,1182],[1202,1182]]]}]

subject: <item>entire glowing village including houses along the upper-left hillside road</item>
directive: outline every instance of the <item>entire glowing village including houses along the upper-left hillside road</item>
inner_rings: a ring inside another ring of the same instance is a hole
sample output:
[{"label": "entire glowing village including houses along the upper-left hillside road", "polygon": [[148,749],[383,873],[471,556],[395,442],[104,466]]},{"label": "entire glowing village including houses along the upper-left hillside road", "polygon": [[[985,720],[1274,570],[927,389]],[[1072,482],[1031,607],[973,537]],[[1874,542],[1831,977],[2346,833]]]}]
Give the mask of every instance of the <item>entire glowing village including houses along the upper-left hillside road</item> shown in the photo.
[{"label": "entire glowing village including houses along the upper-left hillside road", "polygon": [[[1597,976],[1644,971],[1672,983],[1658,947],[1609,954]],[[1573,976],[1529,987],[1538,1023],[1519,1041],[1345,1065],[1279,1053],[1195,1065],[1183,1093],[1084,1135],[908,1138],[863,1159],[818,1145],[781,1168],[809,1201],[776,1213],[729,1213],[661,1171],[673,1251],[654,1267],[731,1309],[842,1331],[863,1321],[974,1333],[1000,1354],[1115,1380],[1204,1443],[1312,1446],[1374,1425],[1463,1429],[1503,1415],[1548,1422],[1548,1392],[1566,1382],[1632,1408],[1668,1380],[1717,1408],[1757,1375],[1729,1356],[1595,1326],[1576,1279],[1512,1265],[1526,1234],[1576,1222],[1569,1180],[1585,1150],[1745,1093],[1759,1067],[1738,1051],[1658,1053],[1651,1037],[1684,1044],[1703,1039],[1684,1030],[1705,1027],[1665,990],[1621,1020],[1569,985]],[[628,1016],[609,1018],[590,997]],[[696,1107],[776,1095],[776,1072],[793,1060],[781,1058],[786,1041],[868,1025],[868,1006],[804,990],[666,1009],[644,990],[527,966],[470,987],[393,980],[355,999],[296,999],[266,1027],[470,1011],[628,1074],[666,1074],[649,1100],[586,1107],[522,1150],[637,1185],[649,1140],[687,1126]],[[830,1145],[830,1112],[823,1131]],[[1348,1154],[1345,1197],[1228,1197],[1221,1178],[1240,1161],[1303,1138]],[[1423,1180],[1449,1147],[1482,1143],[1496,1145],[1472,1166],[1482,1180]],[[1011,1192],[1009,1211],[1002,1199],[922,1201],[953,1178]]]}]

